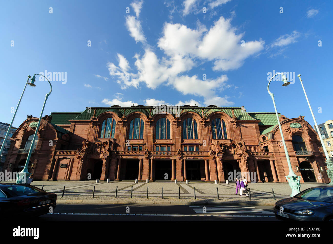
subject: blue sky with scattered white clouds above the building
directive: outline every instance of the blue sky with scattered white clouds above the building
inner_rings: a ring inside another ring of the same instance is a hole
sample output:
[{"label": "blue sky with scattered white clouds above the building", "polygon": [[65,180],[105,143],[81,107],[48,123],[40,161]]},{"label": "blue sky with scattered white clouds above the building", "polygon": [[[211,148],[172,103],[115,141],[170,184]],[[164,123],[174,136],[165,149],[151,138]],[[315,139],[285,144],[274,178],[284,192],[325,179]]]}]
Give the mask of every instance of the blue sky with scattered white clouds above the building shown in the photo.
[{"label": "blue sky with scattered white clouds above the building", "polygon": [[[332,119],[331,1],[1,5],[1,122],[11,121],[27,75],[45,70],[62,72],[66,79],[51,81],[43,115],[133,103],[274,112],[267,74],[275,70],[293,78],[287,87],[281,81],[270,85],[278,112],[314,124],[297,78],[301,74],[317,122]],[[39,117],[49,85],[39,79],[36,85],[27,87],[14,126],[26,115]]]}]

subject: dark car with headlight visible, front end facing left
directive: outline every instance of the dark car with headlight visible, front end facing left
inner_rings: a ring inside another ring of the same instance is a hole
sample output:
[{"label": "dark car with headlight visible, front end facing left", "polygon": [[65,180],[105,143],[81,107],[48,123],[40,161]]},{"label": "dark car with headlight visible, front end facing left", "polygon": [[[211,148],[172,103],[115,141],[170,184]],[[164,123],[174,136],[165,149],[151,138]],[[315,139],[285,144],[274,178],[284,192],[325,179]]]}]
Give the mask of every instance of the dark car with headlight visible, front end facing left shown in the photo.
[{"label": "dark car with headlight visible, front end facing left", "polygon": [[274,205],[280,220],[333,221],[333,186],[311,187]]}]

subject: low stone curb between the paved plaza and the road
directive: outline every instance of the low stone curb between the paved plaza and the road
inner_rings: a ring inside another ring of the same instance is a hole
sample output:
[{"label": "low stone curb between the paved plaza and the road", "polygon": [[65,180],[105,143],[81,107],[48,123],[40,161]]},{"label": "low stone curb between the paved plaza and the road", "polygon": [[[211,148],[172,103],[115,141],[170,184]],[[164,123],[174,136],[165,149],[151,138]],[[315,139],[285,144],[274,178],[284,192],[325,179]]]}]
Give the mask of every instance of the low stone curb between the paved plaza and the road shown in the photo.
[{"label": "low stone curb between the paved plaza and the road", "polygon": [[158,201],[115,201],[115,200],[57,200],[57,203],[93,203],[93,204],[166,204],[166,205],[239,205],[239,206],[274,206],[274,203],[206,203],[206,202],[158,202]]}]

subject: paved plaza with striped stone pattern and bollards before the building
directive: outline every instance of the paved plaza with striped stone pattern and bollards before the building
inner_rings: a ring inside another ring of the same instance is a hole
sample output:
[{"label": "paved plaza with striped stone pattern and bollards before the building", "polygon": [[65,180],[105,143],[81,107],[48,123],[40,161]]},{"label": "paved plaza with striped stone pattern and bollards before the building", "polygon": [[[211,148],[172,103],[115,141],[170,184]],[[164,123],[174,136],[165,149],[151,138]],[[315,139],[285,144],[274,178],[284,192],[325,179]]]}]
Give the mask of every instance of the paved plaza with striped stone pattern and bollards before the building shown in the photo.
[{"label": "paved plaza with striped stone pattern and bollards before the building", "polygon": [[[13,182],[13,181],[11,181]],[[15,182],[13,182],[15,183]],[[160,204],[193,204],[193,203],[230,203],[240,205],[273,205],[272,194],[274,189],[275,199],[288,198],[291,190],[288,184],[253,183],[247,188],[251,191],[251,200],[244,194],[242,197],[235,195],[235,185],[214,183],[189,183],[180,182],[99,182],[96,181],[34,181],[31,185],[58,195],[57,203],[160,203]],[[301,184],[301,191],[325,184]],[[64,197],[62,196],[65,187]],[[93,198],[93,189],[95,193]],[[117,188],[118,187],[118,188]],[[133,187],[132,198],[131,189]],[[147,199],[148,187],[148,199]],[[162,199],[163,187],[163,199]],[[117,188],[117,198],[116,195]],[[194,199],[195,188],[195,199]],[[217,199],[217,190],[218,196]],[[178,191],[180,199],[178,199]]]}]

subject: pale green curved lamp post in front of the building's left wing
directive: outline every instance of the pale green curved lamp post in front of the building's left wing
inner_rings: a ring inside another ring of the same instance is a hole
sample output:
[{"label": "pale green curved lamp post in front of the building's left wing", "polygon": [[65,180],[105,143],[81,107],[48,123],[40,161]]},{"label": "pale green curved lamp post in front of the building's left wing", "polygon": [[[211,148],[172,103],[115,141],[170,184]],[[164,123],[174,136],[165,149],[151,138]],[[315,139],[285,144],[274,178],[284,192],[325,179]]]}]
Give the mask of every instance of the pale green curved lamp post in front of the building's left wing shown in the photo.
[{"label": "pale green curved lamp post in front of the building's left wing", "polygon": [[[41,74],[37,74],[37,75],[41,75]],[[31,78],[31,81],[28,83],[30,86],[36,86],[35,85],[35,81],[36,81],[36,74],[34,74],[34,76]],[[30,161],[30,157],[31,157],[31,153],[32,153],[32,150],[34,149],[35,147],[35,139],[36,139],[36,136],[37,136],[37,133],[38,133],[38,128],[39,128],[39,125],[40,125],[40,122],[41,122],[41,118],[43,116],[43,112],[44,112],[44,108],[45,108],[45,104],[46,104],[46,100],[47,98],[50,96],[51,92],[52,92],[52,85],[51,85],[51,82],[44,76],[44,75],[41,75],[43,76],[50,84],[51,86],[51,90],[49,93],[46,94],[45,96],[45,100],[44,100],[44,104],[43,104],[43,108],[42,108],[42,112],[41,112],[41,115],[39,116],[39,120],[38,120],[38,123],[37,123],[37,126],[36,126],[36,131],[35,131],[35,134],[34,134],[34,138],[32,139],[32,142],[31,142],[31,145],[30,145],[30,149],[29,149],[29,153],[28,153],[28,157],[27,157],[27,161],[25,162],[25,165],[24,165],[24,168],[23,170],[18,173],[17,175],[17,180],[16,180],[16,183],[25,183],[26,180],[27,180],[27,177],[29,177],[31,174],[28,172],[28,165],[29,165],[29,161]]]}]

